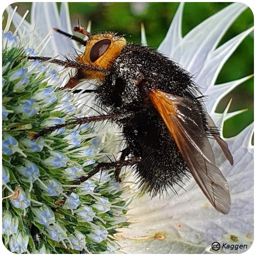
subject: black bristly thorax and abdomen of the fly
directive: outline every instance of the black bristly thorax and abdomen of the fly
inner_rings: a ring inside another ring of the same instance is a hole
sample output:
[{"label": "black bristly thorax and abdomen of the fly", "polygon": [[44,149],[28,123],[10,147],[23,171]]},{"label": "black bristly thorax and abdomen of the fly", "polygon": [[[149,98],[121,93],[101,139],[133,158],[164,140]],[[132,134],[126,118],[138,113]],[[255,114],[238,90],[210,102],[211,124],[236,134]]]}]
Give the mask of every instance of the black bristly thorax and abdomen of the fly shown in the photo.
[{"label": "black bristly thorax and abdomen of the fly", "polygon": [[[142,192],[152,196],[183,182],[188,169],[175,141],[149,100],[148,92],[158,89],[192,100],[195,111],[203,115],[196,99],[196,85],[190,74],[150,47],[126,45],[116,58],[102,85],[96,88],[96,102],[111,111],[134,111],[129,120],[120,119],[131,156],[141,157],[134,168]],[[203,120],[205,131],[207,121]],[[174,190],[173,190],[174,191]],[[175,192],[174,192],[175,193]]]}]

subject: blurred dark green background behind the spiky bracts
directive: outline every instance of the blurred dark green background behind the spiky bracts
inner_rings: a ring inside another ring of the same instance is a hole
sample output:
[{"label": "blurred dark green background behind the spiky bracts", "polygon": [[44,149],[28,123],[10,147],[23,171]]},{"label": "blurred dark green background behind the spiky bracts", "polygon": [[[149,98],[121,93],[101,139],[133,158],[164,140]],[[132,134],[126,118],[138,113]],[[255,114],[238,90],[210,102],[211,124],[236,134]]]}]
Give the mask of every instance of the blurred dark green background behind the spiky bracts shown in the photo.
[{"label": "blurred dark green background behind the spiky bracts", "polygon": [[[58,7],[60,3],[57,3]],[[185,3],[182,34],[183,36],[203,20],[223,9],[230,3],[198,2]],[[18,12],[23,15],[31,9],[31,3],[13,3],[18,6]],[[72,2],[69,3],[72,27],[80,24],[87,27],[91,20],[91,32],[107,30],[131,35],[126,36],[128,42],[140,43],[141,23],[145,26],[147,44],[158,47],[164,39],[171,20],[179,6],[177,2]],[[4,16],[6,16],[4,14]],[[29,15],[27,16],[29,20]],[[5,19],[6,20],[6,19]],[[248,8],[224,35],[221,44],[233,38],[242,31],[253,26],[253,13]],[[4,23],[3,23],[4,25]],[[240,79],[254,72],[254,38],[249,35],[225,63],[216,84]],[[230,112],[248,109],[224,124],[224,136],[229,138],[238,134],[254,119],[254,79],[250,79],[234,89],[217,107],[222,113],[230,98],[233,98]]]}]

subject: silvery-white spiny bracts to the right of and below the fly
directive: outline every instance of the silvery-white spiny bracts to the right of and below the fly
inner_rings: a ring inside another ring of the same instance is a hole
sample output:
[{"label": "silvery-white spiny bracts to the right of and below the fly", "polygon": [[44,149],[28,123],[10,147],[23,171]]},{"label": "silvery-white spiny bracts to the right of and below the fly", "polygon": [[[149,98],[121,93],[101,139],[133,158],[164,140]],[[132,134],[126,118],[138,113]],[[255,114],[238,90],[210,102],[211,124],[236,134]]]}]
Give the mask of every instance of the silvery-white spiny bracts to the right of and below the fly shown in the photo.
[{"label": "silvery-white spiny bracts to the right of and below the fly", "polygon": [[[202,88],[201,92],[209,95],[205,102],[208,113],[217,126],[223,127],[225,120],[240,111],[227,113],[228,105],[223,114],[216,113],[219,101],[252,76],[219,85],[215,85],[215,81],[225,61],[254,28],[249,28],[219,47],[217,45],[247,6],[243,3],[230,4],[182,37],[183,5],[180,4],[158,49],[179,61],[190,73],[196,74],[195,82]],[[130,225],[130,229],[123,228],[120,230],[123,233],[117,236],[119,244],[127,246],[127,253],[215,253],[211,247],[213,242],[220,243],[221,248],[217,252],[221,253],[242,253],[250,248],[254,236],[253,125],[246,127],[236,137],[226,139],[234,158],[233,166],[224,159],[216,143],[213,144],[216,165],[229,184],[229,214],[224,216],[210,207],[194,181],[186,184],[186,191],[175,188],[178,196],[170,193],[170,197],[163,200],[151,200],[145,195],[137,197],[130,204],[132,210],[129,211],[133,215],[130,220],[135,224]],[[243,246],[234,247],[236,245]]]}]

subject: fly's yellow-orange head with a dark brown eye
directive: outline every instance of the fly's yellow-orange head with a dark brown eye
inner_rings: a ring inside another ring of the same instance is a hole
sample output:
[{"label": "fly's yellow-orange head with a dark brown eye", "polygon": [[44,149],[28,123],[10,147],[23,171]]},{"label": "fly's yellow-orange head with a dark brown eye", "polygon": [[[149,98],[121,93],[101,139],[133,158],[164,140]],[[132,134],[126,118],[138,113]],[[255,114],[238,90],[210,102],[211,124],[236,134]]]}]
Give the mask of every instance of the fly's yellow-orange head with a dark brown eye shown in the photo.
[{"label": "fly's yellow-orange head with a dark brown eye", "polygon": [[[86,44],[84,54],[76,60],[90,66],[109,69],[117,56],[126,45],[123,37],[110,33],[92,35]],[[88,79],[103,80],[104,74],[95,71],[85,70]]]}]

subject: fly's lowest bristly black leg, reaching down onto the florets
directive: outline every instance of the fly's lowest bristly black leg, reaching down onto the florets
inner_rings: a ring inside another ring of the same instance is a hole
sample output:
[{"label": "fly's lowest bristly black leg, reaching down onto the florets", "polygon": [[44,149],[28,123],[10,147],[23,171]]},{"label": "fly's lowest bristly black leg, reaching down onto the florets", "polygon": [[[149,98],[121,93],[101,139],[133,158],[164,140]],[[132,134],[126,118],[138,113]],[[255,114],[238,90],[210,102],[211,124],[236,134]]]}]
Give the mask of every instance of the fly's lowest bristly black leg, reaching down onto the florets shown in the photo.
[{"label": "fly's lowest bristly black leg, reaching down onto the florets", "polygon": [[[140,162],[141,159],[139,157],[134,157],[128,160],[118,160],[116,162],[108,162],[108,163],[98,163],[98,165],[91,170],[86,176],[80,177],[79,180],[77,180],[73,185],[77,185],[74,187],[71,187],[69,191],[66,193],[66,195],[69,197],[71,193],[83,182],[87,181],[90,179],[92,176],[94,176],[98,172],[106,171],[106,170],[111,170],[112,168],[115,169],[121,169],[124,166],[132,166],[135,165],[136,163]],[[64,197],[63,200],[58,200],[55,202],[56,205],[63,206],[63,204],[66,202],[67,198]]]}]

